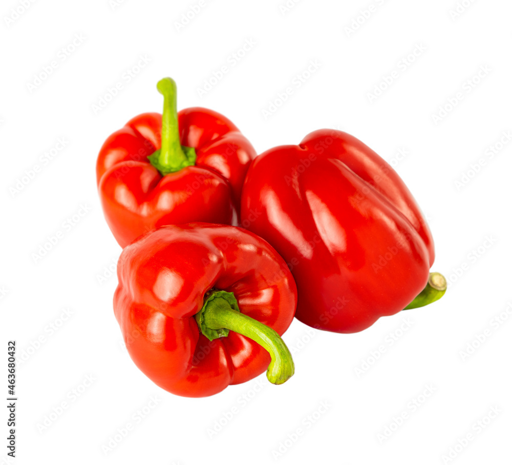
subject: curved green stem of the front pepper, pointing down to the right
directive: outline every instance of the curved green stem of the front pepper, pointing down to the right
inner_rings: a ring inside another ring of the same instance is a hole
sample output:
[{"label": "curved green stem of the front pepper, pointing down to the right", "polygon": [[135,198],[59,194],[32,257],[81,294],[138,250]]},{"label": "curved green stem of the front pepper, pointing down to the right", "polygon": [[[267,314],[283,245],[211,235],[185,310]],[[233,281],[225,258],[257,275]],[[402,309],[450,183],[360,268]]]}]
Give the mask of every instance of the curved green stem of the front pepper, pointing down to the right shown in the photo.
[{"label": "curved green stem of the front pepper, pointing down to the right", "polygon": [[203,308],[196,314],[196,321],[209,340],[235,331],[258,342],[270,354],[267,378],[271,383],[280,385],[293,375],[293,359],[283,339],[272,328],[240,313],[232,292],[212,291],[207,294]]}]

